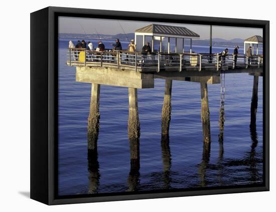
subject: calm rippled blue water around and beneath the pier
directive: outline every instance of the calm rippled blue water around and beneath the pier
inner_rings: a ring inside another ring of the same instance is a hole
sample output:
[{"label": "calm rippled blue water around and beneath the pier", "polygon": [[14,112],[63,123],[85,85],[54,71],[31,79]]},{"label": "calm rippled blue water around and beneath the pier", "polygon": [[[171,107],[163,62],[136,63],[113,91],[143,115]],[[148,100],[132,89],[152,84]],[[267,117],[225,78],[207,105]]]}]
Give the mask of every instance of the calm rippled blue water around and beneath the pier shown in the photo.
[{"label": "calm rippled blue water around and beneath the pier", "polygon": [[[95,46],[96,41],[92,42]],[[109,48],[108,41],[104,44]],[[126,48],[127,43],[122,45]],[[76,68],[65,64],[67,47],[67,40],[59,41],[59,195],[262,182],[262,77],[256,129],[250,133],[253,76],[247,73],[226,74],[223,152],[218,142],[220,84],[208,85],[211,146],[207,159],[203,155],[200,84],[173,81],[170,145],[163,151],[161,111],[165,81],[156,79],[155,88],[139,89],[140,170],[135,174],[130,172],[128,89],[101,85],[98,166],[88,169],[91,84],[75,81]],[[213,52],[224,48],[213,47]],[[233,48],[228,49],[232,53]],[[209,48],[194,46],[193,51],[208,52]]]}]

